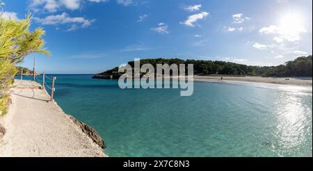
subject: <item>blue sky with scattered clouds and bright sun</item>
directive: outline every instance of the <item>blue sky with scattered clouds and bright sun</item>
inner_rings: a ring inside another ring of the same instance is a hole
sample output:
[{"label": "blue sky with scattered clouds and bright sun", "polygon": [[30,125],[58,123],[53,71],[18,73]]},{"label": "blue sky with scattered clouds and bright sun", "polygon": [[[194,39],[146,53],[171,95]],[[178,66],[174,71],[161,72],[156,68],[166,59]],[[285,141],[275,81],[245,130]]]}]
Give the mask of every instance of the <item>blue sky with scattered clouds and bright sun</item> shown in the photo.
[{"label": "blue sky with scattered clouds and bright sun", "polygon": [[312,54],[311,0],[2,0],[3,15],[42,26],[51,56],[21,64],[92,74],[134,58],[278,65]]}]

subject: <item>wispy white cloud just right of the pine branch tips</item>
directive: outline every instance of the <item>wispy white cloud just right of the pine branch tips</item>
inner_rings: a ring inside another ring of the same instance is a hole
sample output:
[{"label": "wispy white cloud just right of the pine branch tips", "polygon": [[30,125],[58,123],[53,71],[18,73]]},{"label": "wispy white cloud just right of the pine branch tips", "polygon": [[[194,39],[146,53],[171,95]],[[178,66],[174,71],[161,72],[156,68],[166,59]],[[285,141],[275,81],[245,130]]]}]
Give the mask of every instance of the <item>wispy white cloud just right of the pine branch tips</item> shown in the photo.
[{"label": "wispy white cloud just right of the pine branch tips", "polygon": [[79,28],[86,28],[90,26],[95,19],[85,19],[83,17],[70,17],[67,13],[61,15],[49,15],[45,18],[33,18],[36,22],[40,22],[42,25],[59,25],[70,24],[70,29],[67,31],[74,31]]}]

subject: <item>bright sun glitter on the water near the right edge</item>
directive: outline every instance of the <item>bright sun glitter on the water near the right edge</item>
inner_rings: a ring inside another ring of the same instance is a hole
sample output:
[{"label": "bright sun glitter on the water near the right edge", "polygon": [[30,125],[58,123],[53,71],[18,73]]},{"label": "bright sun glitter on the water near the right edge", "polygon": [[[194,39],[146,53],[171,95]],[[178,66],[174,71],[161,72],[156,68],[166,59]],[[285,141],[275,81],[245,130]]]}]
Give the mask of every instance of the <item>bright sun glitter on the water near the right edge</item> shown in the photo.
[{"label": "bright sun glitter on the water near the right edge", "polygon": [[289,149],[303,147],[307,137],[312,138],[312,103],[306,104],[302,99],[302,95],[310,91],[310,88],[287,86],[280,90],[282,92],[275,102],[274,115],[278,126],[275,131],[277,143],[273,146],[273,151],[284,156]]}]

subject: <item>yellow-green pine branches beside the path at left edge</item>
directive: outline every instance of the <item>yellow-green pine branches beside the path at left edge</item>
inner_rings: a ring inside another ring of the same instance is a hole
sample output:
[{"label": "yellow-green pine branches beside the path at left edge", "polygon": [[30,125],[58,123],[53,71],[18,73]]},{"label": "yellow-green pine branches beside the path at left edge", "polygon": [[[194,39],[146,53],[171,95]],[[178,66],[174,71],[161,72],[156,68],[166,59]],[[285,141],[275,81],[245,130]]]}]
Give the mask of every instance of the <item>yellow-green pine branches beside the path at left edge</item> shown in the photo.
[{"label": "yellow-green pine branches beside the path at left edge", "polygon": [[49,51],[42,49],[45,31],[38,28],[31,32],[30,24],[31,15],[19,21],[0,16],[0,115],[7,112],[10,86],[17,73],[16,65],[31,53],[49,54]]}]

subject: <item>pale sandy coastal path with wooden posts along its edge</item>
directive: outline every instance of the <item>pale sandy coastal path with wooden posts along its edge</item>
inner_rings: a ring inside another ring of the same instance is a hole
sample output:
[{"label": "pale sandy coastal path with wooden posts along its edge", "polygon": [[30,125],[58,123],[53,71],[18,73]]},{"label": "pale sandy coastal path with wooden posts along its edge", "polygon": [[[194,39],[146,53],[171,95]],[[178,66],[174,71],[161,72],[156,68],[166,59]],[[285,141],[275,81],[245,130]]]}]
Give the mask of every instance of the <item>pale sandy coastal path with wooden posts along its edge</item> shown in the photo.
[{"label": "pale sandy coastal path with wooden posts along its edge", "polygon": [[[32,81],[16,81],[8,114],[0,118],[6,134],[0,156],[105,156],[45,90]],[[23,87],[23,88],[22,88]]]}]

